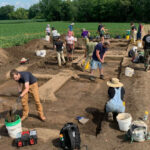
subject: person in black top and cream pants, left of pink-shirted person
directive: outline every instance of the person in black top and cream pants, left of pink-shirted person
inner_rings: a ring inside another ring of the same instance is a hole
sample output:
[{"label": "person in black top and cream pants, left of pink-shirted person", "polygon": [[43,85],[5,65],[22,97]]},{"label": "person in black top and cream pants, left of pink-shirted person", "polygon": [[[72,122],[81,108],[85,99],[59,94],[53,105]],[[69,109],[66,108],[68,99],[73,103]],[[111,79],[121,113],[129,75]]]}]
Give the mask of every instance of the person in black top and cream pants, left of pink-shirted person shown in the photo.
[{"label": "person in black top and cream pants, left of pink-shirted person", "polygon": [[58,37],[57,41],[55,42],[55,49],[57,51],[57,60],[58,60],[58,66],[61,67],[61,58],[63,60],[63,63],[66,64],[64,52],[63,52],[64,44],[60,40],[60,37]]}]

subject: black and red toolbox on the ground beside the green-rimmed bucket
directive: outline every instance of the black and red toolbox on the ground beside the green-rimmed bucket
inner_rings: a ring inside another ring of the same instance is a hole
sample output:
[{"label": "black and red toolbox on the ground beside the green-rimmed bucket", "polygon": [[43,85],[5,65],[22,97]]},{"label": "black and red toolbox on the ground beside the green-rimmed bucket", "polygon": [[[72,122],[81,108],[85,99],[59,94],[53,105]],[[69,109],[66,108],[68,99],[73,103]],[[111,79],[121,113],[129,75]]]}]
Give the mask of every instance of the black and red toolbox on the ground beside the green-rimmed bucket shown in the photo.
[{"label": "black and red toolbox on the ground beside the green-rimmed bucket", "polygon": [[16,139],[14,140],[15,146],[23,147],[27,145],[37,144],[37,132],[36,130],[23,131],[17,134]]}]

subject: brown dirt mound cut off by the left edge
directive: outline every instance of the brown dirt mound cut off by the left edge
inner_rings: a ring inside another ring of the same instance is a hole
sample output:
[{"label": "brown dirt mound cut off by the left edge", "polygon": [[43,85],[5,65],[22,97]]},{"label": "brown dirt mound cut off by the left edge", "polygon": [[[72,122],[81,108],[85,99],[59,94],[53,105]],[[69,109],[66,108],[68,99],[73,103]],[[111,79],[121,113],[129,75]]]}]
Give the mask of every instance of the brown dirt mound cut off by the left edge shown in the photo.
[{"label": "brown dirt mound cut off by the left edge", "polygon": [[8,53],[4,49],[0,48],[0,66],[6,64],[8,59]]}]

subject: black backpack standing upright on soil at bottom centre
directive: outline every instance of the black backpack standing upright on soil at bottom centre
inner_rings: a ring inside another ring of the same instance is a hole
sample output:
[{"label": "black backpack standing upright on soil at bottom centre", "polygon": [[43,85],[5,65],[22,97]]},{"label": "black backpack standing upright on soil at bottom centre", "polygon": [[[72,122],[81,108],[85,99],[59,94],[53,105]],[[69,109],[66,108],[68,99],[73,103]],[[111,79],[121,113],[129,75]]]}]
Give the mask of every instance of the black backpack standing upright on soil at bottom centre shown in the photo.
[{"label": "black backpack standing upright on soil at bottom centre", "polygon": [[61,148],[65,150],[80,149],[80,132],[77,125],[67,123],[60,131]]}]

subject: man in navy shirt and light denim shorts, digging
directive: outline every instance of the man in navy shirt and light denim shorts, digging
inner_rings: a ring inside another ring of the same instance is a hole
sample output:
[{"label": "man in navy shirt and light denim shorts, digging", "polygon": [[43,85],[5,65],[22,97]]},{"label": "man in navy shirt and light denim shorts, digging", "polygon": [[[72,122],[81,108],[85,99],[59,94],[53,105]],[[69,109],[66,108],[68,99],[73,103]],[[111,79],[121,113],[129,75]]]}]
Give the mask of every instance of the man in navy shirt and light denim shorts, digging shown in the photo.
[{"label": "man in navy shirt and light denim shorts, digging", "polygon": [[104,58],[106,56],[106,51],[110,46],[109,41],[105,41],[104,43],[99,42],[93,51],[92,61],[91,61],[91,77],[90,80],[95,80],[93,77],[94,70],[99,68],[100,79],[104,79],[104,73],[102,68],[102,63],[104,63]]}]

